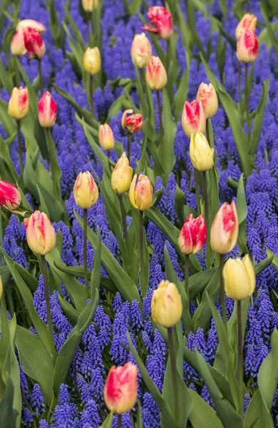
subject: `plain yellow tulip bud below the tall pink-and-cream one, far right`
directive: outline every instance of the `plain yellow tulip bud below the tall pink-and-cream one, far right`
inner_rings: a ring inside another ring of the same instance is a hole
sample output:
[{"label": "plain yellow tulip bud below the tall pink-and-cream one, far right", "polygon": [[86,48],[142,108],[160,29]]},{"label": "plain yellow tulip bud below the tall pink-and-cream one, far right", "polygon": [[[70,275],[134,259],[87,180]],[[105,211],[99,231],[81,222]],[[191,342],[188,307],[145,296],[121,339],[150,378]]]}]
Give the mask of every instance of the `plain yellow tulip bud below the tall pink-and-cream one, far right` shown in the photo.
[{"label": "plain yellow tulip bud below the tall pink-and-cream one, far right", "polygon": [[256,286],[256,275],[249,255],[245,255],[242,260],[227,260],[223,267],[223,279],[227,297],[234,300],[250,297]]}]

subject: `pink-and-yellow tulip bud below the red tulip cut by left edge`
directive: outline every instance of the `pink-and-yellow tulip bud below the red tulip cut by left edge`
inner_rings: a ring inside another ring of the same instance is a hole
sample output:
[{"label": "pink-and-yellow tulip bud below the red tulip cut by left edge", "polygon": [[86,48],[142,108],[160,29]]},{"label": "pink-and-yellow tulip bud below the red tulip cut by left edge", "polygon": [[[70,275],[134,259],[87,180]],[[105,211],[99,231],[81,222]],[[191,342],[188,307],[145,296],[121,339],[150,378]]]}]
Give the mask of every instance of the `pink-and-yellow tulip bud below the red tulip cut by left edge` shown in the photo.
[{"label": "pink-and-yellow tulip bud below the red tulip cut by left edge", "polygon": [[56,234],[46,213],[35,211],[29,218],[24,218],[27,243],[36,254],[50,253],[56,244]]}]

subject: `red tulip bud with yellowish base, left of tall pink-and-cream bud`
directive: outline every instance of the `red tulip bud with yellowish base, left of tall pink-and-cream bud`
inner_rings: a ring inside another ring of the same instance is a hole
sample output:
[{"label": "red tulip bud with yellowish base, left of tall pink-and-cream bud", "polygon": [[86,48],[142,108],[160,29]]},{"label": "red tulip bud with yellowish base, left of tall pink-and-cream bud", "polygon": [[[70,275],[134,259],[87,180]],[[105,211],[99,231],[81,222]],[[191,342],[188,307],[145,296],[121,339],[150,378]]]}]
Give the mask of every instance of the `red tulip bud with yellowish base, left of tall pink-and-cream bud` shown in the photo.
[{"label": "red tulip bud with yellowish base, left of tall pink-and-cream bud", "polygon": [[180,230],[178,244],[183,254],[196,254],[205,245],[207,228],[202,214],[193,218],[190,214]]}]

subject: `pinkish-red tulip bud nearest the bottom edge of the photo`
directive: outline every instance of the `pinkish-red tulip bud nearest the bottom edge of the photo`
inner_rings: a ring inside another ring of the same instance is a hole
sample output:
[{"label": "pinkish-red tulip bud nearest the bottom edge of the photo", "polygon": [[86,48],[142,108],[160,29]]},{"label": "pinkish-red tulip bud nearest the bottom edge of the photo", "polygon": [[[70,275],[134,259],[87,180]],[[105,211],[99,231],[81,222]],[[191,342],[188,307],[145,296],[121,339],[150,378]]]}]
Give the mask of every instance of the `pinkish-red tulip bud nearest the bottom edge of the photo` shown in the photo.
[{"label": "pinkish-red tulip bud nearest the bottom edge of the photo", "polygon": [[138,368],[127,362],[124,366],[111,367],[104,387],[104,401],[110,412],[129,412],[137,400]]}]

